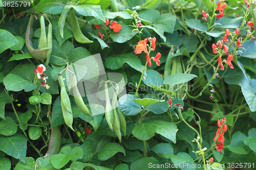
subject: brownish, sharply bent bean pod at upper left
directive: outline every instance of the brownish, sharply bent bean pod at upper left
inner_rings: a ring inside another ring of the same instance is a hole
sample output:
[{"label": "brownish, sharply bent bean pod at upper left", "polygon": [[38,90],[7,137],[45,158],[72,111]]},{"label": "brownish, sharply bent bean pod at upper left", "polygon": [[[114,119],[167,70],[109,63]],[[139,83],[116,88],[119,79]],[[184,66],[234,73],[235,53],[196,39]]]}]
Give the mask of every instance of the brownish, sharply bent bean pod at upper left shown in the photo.
[{"label": "brownish, sharply bent bean pod at upper left", "polygon": [[33,21],[34,21],[34,15],[30,16],[29,19],[29,24],[27,27],[27,31],[26,31],[26,46],[28,48],[29,53],[31,54],[32,57],[34,57],[35,59],[38,60],[44,60],[47,57],[47,53],[49,50],[51,50],[52,48],[38,48],[35,49],[32,45],[32,37],[33,37]]}]

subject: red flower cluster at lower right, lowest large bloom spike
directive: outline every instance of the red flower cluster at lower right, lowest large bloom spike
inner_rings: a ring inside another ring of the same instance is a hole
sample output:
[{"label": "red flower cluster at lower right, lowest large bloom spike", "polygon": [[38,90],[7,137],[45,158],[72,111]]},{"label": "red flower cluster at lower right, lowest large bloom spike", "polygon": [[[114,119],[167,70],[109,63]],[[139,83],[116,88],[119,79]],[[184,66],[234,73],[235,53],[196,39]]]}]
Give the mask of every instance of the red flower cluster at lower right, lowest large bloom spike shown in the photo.
[{"label": "red flower cluster at lower right, lowest large bloom spike", "polygon": [[[225,122],[224,122],[225,120]],[[222,149],[223,149],[223,145],[224,145],[224,133],[227,131],[227,125],[226,125],[227,119],[224,117],[221,119],[221,121],[218,119],[217,125],[218,125],[218,130],[216,132],[216,136],[214,138],[214,141],[216,140],[216,138],[218,137],[218,142],[216,144],[216,150],[219,151],[222,154]]]}]

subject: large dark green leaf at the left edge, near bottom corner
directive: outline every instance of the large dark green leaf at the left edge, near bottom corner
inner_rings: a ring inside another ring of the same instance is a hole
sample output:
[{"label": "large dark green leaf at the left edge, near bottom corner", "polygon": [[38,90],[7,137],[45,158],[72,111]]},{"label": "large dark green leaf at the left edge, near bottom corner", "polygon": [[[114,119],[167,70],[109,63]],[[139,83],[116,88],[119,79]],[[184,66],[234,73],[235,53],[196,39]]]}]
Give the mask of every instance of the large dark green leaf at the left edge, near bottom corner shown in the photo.
[{"label": "large dark green leaf at the left edge, near bottom corner", "polygon": [[0,150],[25,163],[27,138],[23,134],[0,136]]}]

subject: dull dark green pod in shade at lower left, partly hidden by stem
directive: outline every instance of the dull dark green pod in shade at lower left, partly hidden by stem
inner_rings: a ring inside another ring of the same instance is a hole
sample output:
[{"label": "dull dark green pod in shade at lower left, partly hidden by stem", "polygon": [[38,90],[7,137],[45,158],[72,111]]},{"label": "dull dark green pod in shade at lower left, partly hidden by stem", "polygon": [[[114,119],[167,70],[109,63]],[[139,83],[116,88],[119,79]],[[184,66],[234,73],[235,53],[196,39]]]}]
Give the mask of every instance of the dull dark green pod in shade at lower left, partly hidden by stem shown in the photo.
[{"label": "dull dark green pod in shade at lower left, partly hidden by stem", "polygon": [[[48,114],[48,118],[50,121],[50,124],[52,124],[52,115],[51,113]],[[49,144],[48,144],[48,151],[47,151],[47,156],[46,158],[51,158],[53,155],[59,153],[59,148],[61,145],[61,133],[59,130],[59,127],[55,127],[51,129],[51,135],[49,139]]]}]

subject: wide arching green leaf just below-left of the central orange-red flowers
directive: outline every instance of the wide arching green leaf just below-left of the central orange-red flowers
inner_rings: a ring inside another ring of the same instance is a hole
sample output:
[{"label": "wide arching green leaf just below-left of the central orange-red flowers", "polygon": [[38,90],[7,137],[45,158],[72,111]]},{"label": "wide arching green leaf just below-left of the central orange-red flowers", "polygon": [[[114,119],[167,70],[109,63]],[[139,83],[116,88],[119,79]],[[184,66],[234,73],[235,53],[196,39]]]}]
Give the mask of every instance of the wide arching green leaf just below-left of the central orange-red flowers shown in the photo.
[{"label": "wide arching green leaf just below-left of the central orange-red flowers", "polygon": [[109,69],[118,69],[121,68],[124,63],[129,64],[132,68],[140,72],[142,72],[142,69],[144,67],[143,65],[141,65],[140,59],[138,59],[134,54],[131,53],[120,54],[115,57],[109,57],[105,61],[105,66]]}]

